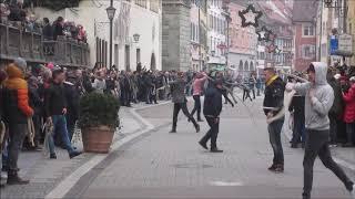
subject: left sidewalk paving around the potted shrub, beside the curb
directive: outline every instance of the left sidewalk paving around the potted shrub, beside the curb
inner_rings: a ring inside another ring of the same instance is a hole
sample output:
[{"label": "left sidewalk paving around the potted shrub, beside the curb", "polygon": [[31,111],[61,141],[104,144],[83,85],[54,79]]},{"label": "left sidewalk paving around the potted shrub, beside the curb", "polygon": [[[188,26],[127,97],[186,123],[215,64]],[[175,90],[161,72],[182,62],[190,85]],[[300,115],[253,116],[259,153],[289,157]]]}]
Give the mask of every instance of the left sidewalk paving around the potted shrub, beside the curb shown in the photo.
[{"label": "left sidewalk paving around the potted shrub, beside the curb", "polygon": [[[131,108],[122,107],[120,119],[122,128],[115,132],[113,144],[144,127],[131,114]],[[79,143],[75,146],[78,149],[82,149],[82,144]],[[64,178],[98,156],[84,153],[69,159],[67,150],[59,148],[57,148],[57,155],[58,159],[49,159],[49,157],[44,157],[42,151],[22,151],[19,158],[20,175],[30,179],[30,184],[1,188],[0,198],[44,198]]]}]

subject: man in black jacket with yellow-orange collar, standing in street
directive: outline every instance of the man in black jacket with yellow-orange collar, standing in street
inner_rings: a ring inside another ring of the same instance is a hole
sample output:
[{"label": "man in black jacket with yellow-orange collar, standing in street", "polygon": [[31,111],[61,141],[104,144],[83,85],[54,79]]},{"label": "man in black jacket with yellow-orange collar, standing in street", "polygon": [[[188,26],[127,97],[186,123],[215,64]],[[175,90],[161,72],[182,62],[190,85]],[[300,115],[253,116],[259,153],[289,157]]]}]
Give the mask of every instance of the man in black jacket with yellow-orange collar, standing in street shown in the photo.
[{"label": "man in black jacket with yellow-orange collar, standing in street", "polygon": [[[285,83],[276,75],[274,67],[264,69],[266,87],[264,98],[264,113],[267,118],[275,116],[284,106],[284,91]],[[270,136],[270,144],[274,151],[274,159],[270,171],[283,172],[284,171],[284,153],[281,142],[281,130],[285,118],[282,117],[268,124],[267,130]]]}]

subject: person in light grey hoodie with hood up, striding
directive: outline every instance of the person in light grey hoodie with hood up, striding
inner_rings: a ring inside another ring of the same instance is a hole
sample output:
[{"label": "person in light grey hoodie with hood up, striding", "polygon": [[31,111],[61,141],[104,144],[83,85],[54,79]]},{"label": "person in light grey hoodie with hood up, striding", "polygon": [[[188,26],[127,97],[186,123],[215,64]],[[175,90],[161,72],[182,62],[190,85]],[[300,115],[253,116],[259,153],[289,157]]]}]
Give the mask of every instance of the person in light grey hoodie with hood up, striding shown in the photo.
[{"label": "person in light grey hoodie with hood up, striding", "polygon": [[334,92],[327,83],[327,65],[323,62],[312,62],[308,70],[308,81],[305,83],[287,83],[286,91],[295,90],[305,96],[306,145],[304,151],[304,186],[303,199],[311,199],[313,186],[313,166],[318,156],[324,166],[331,169],[343,181],[345,188],[354,193],[354,182],[345,175],[332,158],[329,149],[328,113],[334,102]]}]

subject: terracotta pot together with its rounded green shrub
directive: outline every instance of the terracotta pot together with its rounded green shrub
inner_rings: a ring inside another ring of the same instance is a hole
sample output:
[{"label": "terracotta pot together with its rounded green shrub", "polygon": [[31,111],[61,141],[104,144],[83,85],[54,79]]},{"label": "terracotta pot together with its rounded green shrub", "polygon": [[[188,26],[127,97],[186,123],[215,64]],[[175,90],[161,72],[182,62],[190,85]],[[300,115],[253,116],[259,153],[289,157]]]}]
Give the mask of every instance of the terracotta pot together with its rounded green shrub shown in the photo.
[{"label": "terracotta pot together with its rounded green shrub", "polygon": [[119,126],[118,98],[92,92],[80,101],[79,127],[84,151],[109,153],[115,128]]}]

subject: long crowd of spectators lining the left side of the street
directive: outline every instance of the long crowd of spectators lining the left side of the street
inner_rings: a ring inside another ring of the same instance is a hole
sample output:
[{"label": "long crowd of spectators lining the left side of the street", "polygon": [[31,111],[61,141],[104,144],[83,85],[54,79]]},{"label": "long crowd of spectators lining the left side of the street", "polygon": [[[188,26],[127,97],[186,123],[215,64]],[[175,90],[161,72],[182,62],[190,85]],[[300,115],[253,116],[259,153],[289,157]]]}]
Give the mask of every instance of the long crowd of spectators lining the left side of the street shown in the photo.
[{"label": "long crowd of spectators lining the left side of the street", "polygon": [[[223,74],[215,74],[223,76]],[[19,57],[0,71],[1,80],[1,121],[7,132],[1,139],[2,170],[8,171],[8,184],[27,184],[18,176],[17,160],[22,149],[45,150],[48,143],[49,158],[57,159],[54,146],[68,150],[69,157],[79,156],[71,142],[79,118],[80,98],[87,93],[98,92],[116,97],[122,106],[131,107],[132,103],[158,104],[158,101],[184,101],[184,96],[193,95],[194,111],[190,116],[186,106],[180,106],[189,119],[200,130],[194,119],[202,122],[201,101],[204,90],[209,86],[205,73],[192,71],[150,71],[138,64],[136,71],[119,71],[97,63],[92,70],[69,70],[48,63],[28,66]],[[183,86],[176,83],[183,77]],[[231,78],[231,77],[230,77]],[[225,78],[227,82],[227,78]],[[179,92],[178,92],[179,91]],[[182,94],[180,93],[182,92]],[[224,92],[226,103],[233,102]],[[178,98],[178,100],[176,100]],[[185,102],[180,102],[185,103]],[[174,121],[179,111],[174,112]],[[30,118],[30,119],[29,119]],[[53,129],[43,129],[45,124]],[[50,134],[49,134],[50,133]],[[1,134],[0,134],[1,135]],[[26,139],[24,139],[26,138]],[[24,142],[22,142],[24,140]],[[23,144],[22,144],[23,143]]]}]

